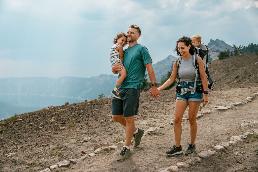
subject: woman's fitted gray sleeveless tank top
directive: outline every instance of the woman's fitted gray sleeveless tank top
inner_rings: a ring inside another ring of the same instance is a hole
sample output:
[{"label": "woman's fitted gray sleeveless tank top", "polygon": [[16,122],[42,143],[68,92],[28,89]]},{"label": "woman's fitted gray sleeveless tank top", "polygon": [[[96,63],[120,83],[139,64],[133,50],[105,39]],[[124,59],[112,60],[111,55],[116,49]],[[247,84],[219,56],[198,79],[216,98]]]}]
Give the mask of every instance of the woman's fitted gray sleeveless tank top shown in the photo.
[{"label": "woman's fitted gray sleeveless tank top", "polygon": [[[180,82],[192,82],[195,81],[195,67],[193,66],[193,56],[191,56],[188,59],[181,59],[179,69],[178,69],[178,75],[180,78]],[[196,81],[199,81],[199,78],[197,78]]]}]

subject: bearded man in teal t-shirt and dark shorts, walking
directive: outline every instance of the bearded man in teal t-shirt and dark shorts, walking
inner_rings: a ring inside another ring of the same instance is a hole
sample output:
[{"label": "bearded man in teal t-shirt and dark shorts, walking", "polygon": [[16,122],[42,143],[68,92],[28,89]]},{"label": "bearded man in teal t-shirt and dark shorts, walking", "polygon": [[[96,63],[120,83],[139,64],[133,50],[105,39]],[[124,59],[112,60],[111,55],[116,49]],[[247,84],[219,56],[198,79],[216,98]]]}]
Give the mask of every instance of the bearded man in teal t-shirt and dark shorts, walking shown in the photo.
[{"label": "bearded man in teal t-shirt and dark shorts, walking", "polygon": [[[112,115],[113,119],[125,126],[126,142],[122,152],[118,155],[117,160],[126,160],[131,154],[130,143],[134,136],[134,145],[137,147],[143,136],[143,129],[134,125],[134,115],[137,115],[140,101],[140,88],[143,84],[145,71],[147,69],[149,78],[152,83],[151,96],[159,97],[160,93],[157,88],[156,77],[152,67],[152,60],[146,47],[137,43],[141,36],[141,29],[132,24],[127,31],[127,42],[129,47],[124,50],[124,67],[127,77],[120,86],[119,93],[121,99],[113,97]],[[112,67],[112,72],[122,70],[122,64],[117,62]],[[119,75],[120,77],[120,75]]]}]

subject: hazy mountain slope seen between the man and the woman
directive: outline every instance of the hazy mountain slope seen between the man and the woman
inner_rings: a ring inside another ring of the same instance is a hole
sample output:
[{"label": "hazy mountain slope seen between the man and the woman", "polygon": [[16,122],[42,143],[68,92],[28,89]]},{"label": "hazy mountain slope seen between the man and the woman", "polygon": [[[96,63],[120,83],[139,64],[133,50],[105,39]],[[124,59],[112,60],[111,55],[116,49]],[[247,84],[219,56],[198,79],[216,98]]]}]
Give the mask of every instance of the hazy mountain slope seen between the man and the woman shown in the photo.
[{"label": "hazy mountain slope seen between the man and the woman", "polygon": [[[167,76],[167,72],[173,69],[173,63],[176,59],[177,59],[176,57],[172,55],[168,55],[167,58],[165,58],[164,60],[159,61],[152,65],[157,82],[162,81]],[[146,74],[147,74],[148,81],[150,81],[147,70],[146,70]]]}]

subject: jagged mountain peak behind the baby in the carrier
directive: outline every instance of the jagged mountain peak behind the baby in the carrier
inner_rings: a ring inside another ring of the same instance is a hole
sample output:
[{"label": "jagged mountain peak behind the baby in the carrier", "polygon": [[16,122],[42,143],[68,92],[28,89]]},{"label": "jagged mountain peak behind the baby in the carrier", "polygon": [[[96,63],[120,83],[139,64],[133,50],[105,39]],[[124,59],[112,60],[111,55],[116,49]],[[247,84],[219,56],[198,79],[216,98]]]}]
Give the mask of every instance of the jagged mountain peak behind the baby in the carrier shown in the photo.
[{"label": "jagged mountain peak behind the baby in the carrier", "polygon": [[209,60],[208,61],[218,59],[217,55],[219,55],[221,51],[226,50],[225,47],[227,47],[228,50],[233,50],[231,45],[228,45],[223,40],[219,40],[219,39],[216,39],[216,40],[211,39],[207,46],[209,48]]}]

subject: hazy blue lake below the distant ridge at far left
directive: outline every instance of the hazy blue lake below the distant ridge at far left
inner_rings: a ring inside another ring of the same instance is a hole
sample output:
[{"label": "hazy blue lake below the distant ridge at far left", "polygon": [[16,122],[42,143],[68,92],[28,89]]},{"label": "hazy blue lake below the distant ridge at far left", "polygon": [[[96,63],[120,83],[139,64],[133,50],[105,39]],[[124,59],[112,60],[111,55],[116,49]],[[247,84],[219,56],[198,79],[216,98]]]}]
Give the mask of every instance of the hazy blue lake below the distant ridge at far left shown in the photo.
[{"label": "hazy blue lake below the distant ridge at far left", "polygon": [[0,95],[0,120],[40,110],[48,106],[60,106],[68,101],[69,104],[83,102],[81,99],[54,96],[33,96],[33,95]]}]

